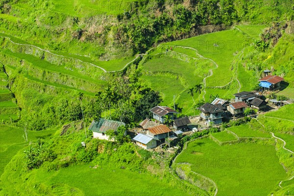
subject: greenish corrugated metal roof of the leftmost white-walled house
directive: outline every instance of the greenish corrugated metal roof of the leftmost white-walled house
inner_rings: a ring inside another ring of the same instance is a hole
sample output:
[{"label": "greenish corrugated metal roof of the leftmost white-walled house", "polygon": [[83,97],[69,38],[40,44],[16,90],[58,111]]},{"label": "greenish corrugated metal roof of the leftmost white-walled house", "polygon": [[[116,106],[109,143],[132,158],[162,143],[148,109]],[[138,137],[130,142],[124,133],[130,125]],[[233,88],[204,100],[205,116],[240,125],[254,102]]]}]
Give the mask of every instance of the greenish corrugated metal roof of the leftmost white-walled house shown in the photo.
[{"label": "greenish corrugated metal roof of the leftmost white-walled house", "polygon": [[105,133],[108,130],[117,131],[117,129],[122,125],[125,126],[123,122],[100,118],[99,121],[92,121],[89,130]]}]

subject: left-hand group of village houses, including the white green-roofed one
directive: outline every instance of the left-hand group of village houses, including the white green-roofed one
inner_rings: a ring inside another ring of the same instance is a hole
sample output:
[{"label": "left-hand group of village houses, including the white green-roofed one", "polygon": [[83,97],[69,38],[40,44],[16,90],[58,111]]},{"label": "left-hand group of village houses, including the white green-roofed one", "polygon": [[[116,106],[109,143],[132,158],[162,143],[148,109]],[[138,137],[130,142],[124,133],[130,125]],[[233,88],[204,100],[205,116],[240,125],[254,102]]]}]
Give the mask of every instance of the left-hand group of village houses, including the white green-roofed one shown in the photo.
[{"label": "left-hand group of village houses, including the white green-roofed one", "polygon": [[[150,110],[153,113],[154,121],[146,118],[139,126],[141,131],[132,139],[139,146],[145,149],[155,148],[162,143],[173,144],[178,139],[182,138],[183,132],[180,129],[186,130],[188,124],[191,124],[188,117],[175,118],[178,113],[169,107],[156,106]],[[167,116],[173,120],[173,130],[164,125]],[[100,119],[99,121],[93,120],[89,130],[93,132],[93,138],[101,140],[112,140],[106,135],[107,130],[114,130],[120,126],[125,126],[123,122]],[[126,134],[126,133],[125,133]]]}]

